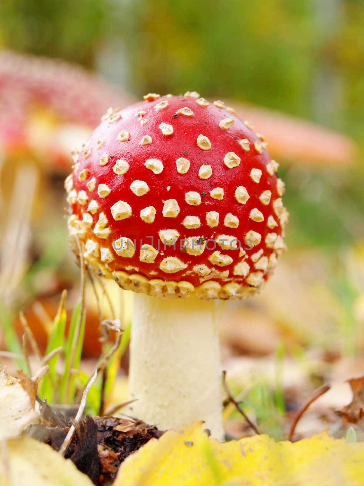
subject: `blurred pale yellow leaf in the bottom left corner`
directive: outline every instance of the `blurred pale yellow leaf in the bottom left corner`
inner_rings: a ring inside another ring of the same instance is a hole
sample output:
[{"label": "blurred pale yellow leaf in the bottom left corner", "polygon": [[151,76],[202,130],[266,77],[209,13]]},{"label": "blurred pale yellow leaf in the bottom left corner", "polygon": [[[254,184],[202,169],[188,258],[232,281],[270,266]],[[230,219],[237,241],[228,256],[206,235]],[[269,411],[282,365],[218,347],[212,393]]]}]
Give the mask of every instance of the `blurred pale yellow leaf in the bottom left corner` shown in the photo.
[{"label": "blurred pale yellow leaf in the bottom left corner", "polygon": [[70,459],[30,437],[8,439],[0,452],[0,486],[93,485]]}]

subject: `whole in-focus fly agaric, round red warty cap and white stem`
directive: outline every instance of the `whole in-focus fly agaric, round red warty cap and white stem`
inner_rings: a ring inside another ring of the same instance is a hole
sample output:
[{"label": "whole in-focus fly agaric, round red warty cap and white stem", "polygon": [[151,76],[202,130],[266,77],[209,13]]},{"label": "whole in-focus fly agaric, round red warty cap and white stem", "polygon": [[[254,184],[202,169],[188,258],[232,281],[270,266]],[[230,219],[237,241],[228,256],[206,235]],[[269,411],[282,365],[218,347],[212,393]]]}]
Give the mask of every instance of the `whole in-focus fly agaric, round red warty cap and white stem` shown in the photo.
[{"label": "whole in-focus fly agaric, round red warty cap and white stem", "polygon": [[66,179],[87,265],[136,292],[130,413],[163,429],[203,419],[222,439],[214,299],[256,292],[288,213],[262,136],[198,93],[108,110]]}]

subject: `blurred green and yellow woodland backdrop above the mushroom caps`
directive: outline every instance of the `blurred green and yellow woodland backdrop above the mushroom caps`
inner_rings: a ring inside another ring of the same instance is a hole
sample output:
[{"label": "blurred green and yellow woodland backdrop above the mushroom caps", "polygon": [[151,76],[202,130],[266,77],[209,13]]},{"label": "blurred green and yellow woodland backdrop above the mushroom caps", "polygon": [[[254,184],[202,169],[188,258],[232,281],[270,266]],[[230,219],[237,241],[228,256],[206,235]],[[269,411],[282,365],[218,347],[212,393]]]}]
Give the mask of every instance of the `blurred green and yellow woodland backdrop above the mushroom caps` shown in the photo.
[{"label": "blurred green and yellow woodland backdrop above the mushroom caps", "polygon": [[4,0],[0,45],[97,69],[137,95],[229,97],[360,138],[362,0]]}]

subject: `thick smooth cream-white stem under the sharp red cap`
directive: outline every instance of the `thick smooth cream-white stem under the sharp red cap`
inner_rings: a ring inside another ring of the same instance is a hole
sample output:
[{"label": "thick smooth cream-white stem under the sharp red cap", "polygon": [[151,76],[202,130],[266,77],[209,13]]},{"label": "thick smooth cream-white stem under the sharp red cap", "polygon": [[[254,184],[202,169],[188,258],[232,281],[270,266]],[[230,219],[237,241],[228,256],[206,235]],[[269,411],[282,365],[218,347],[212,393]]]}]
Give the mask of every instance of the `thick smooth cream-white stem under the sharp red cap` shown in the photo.
[{"label": "thick smooth cream-white stem under the sharp red cap", "polygon": [[218,321],[222,302],[134,294],[129,406],[161,430],[204,420],[223,440]]}]

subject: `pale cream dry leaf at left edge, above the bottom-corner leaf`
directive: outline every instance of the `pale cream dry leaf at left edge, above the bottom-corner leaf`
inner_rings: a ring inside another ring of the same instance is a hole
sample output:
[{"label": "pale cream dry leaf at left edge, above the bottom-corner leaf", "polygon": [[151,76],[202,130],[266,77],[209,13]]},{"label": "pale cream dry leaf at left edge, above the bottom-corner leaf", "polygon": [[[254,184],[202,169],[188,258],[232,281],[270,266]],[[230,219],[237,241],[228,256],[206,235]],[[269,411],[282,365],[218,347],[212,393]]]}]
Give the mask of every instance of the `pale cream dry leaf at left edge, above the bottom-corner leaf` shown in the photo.
[{"label": "pale cream dry leaf at left edge, above the bottom-corner leaf", "polygon": [[31,403],[20,380],[0,369],[0,440],[16,437],[35,417],[39,405]]}]

